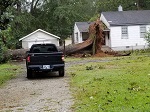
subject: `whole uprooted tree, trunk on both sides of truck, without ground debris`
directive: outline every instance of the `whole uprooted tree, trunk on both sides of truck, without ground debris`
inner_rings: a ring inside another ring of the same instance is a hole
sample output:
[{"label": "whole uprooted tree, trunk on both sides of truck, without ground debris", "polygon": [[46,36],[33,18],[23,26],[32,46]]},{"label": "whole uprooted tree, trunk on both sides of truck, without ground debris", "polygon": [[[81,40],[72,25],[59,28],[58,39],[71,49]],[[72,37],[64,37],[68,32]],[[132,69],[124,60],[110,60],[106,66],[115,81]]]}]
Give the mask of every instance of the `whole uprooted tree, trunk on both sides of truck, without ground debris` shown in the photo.
[{"label": "whole uprooted tree, trunk on both sides of truck, without ground debris", "polygon": [[[86,48],[90,48],[92,51],[92,54],[96,54],[101,52],[102,42],[104,39],[103,35],[103,26],[102,22],[100,20],[95,21],[92,23],[89,27],[89,37],[86,41],[79,44],[73,44],[68,45],[64,47],[59,47],[59,51],[62,51],[65,53],[65,55],[71,55],[74,53],[78,53]],[[21,59],[25,58],[25,52],[27,51],[24,49],[18,49],[18,50],[10,50],[9,53],[11,54],[11,57],[13,59]]]}]

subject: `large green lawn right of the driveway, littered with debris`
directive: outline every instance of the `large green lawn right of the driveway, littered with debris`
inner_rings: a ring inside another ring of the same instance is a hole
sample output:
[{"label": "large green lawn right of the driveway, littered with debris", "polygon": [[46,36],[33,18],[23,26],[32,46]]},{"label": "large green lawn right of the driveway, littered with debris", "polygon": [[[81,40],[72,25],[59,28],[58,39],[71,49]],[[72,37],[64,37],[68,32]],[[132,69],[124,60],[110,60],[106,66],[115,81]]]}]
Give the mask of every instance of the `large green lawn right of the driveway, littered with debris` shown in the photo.
[{"label": "large green lawn right of the driveway, littered with debris", "polygon": [[[88,60],[88,58],[87,58]],[[75,112],[150,112],[150,56],[111,57],[67,71]]]}]

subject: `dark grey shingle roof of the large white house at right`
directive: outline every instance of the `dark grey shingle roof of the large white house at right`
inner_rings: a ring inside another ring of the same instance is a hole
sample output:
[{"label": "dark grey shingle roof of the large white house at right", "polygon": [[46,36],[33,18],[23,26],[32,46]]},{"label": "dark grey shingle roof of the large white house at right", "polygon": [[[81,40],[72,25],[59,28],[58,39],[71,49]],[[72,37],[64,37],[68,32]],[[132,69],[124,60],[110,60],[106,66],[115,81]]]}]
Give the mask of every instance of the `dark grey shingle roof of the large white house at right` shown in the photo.
[{"label": "dark grey shingle roof of the large white house at right", "polygon": [[111,26],[150,24],[150,10],[102,12]]}]

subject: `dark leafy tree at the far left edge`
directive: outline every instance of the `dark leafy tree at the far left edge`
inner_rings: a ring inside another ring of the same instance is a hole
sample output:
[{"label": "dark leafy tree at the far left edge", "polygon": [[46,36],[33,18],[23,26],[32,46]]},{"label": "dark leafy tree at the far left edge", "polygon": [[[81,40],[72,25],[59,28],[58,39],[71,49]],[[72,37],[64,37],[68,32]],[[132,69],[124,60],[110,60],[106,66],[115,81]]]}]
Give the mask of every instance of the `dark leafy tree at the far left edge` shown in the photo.
[{"label": "dark leafy tree at the far left edge", "polygon": [[[15,1],[13,0],[0,0],[0,63],[6,62],[8,60],[8,56],[6,56],[6,36],[9,27],[9,23],[12,19],[11,13],[9,13],[8,8],[13,5]],[[9,36],[10,37],[10,36]]]}]

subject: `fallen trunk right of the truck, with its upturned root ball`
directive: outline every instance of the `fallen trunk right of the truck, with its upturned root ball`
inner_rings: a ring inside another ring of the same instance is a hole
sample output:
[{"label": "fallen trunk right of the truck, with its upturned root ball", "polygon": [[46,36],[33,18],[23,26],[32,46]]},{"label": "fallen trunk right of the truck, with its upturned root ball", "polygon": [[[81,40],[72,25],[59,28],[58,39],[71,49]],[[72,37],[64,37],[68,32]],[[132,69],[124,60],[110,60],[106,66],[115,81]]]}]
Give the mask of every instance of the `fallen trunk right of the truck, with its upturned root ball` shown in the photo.
[{"label": "fallen trunk right of the truck, with its upturned root ball", "polygon": [[89,37],[86,41],[79,44],[68,45],[65,47],[59,48],[60,51],[64,51],[66,55],[71,55],[77,53],[83,49],[86,49],[89,46],[92,46],[92,53],[96,54],[101,52],[102,42],[104,39],[102,22],[98,19],[96,22],[90,25],[89,27]]}]

